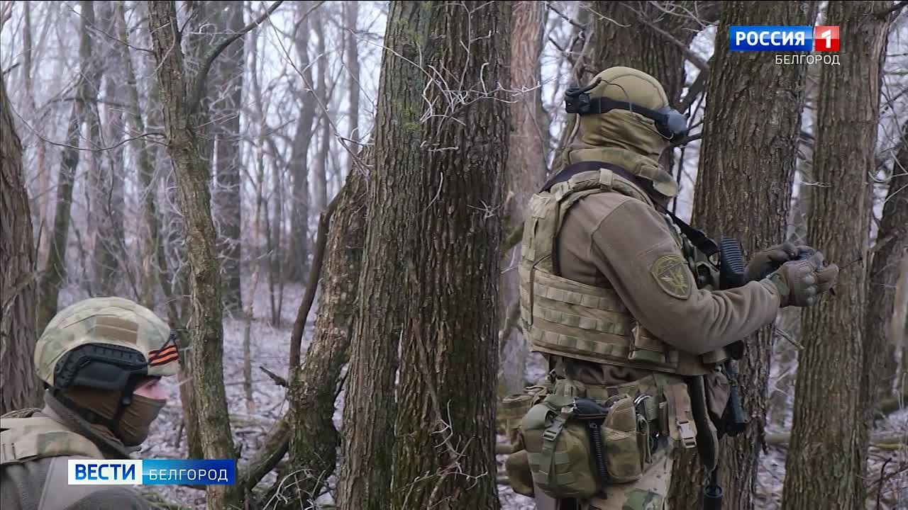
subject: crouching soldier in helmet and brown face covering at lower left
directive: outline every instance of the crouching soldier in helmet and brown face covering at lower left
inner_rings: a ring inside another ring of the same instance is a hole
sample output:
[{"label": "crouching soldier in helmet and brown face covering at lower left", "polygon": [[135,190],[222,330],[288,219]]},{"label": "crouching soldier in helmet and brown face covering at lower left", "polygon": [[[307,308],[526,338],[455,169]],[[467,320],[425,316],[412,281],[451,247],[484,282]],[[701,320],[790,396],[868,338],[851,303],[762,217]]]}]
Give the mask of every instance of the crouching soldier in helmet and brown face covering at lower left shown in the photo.
[{"label": "crouching soldier in helmet and brown face covering at lower left", "polygon": [[148,508],[127,485],[68,485],[67,460],[129,459],[167,402],[159,380],[176,374],[178,358],[170,328],[128,299],[60,311],[35,346],[44,408],[0,417],[0,507]]}]

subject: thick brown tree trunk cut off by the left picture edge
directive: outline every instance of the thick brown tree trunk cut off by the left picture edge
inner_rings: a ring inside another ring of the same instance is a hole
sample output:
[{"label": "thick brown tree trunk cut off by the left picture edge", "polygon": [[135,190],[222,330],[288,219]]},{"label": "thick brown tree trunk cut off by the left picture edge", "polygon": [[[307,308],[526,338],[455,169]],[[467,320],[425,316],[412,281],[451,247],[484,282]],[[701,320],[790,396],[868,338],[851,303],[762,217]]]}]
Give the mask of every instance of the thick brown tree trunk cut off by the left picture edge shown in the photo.
[{"label": "thick brown tree trunk cut off by the left picture edge", "polygon": [[0,76],[0,415],[35,406],[35,243],[22,142]]}]

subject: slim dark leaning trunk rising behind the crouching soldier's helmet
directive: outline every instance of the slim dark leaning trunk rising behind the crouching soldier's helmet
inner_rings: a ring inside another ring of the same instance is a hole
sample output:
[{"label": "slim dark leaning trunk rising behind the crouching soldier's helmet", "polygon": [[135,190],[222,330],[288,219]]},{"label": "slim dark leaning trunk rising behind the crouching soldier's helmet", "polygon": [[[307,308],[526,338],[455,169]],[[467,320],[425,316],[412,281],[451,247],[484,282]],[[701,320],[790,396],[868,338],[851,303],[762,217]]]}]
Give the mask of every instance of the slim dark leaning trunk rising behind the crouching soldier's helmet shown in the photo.
[{"label": "slim dark leaning trunk rising behind the crouching soldier's helmet", "polygon": [[79,166],[79,133],[85,121],[85,110],[91,96],[91,84],[88,82],[88,69],[92,66],[92,36],[89,29],[94,25],[94,9],[91,2],[82,11],[79,24],[79,61],[80,69],[76,85],[77,101],[73,102],[73,111],[66,127],[66,147],[61,154],[60,174],[57,177],[56,206],[54,208],[54,234],[47,248],[47,261],[44,275],[41,277],[41,289],[38,301],[37,330],[44,330],[57,312],[57,296],[60,286],[66,280],[66,246],[69,240],[70,212],[73,205],[73,184],[75,170]]}]

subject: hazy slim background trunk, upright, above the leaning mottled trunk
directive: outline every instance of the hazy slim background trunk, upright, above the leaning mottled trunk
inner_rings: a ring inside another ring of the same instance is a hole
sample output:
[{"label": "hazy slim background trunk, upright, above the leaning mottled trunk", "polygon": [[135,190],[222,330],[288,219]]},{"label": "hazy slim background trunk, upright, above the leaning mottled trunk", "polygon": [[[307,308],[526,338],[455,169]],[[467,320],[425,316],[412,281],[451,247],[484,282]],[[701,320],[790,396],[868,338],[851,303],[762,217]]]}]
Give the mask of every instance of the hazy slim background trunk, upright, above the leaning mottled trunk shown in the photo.
[{"label": "hazy slim background trunk, upright, above the leaning mottled trunk", "polygon": [[[298,15],[309,10],[310,2],[297,4]],[[298,76],[298,94],[302,103],[300,118],[296,123],[296,131],[291,142],[291,158],[288,171],[291,175],[291,233],[290,245],[287,250],[286,266],[283,271],[284,278],[290,281],[301,281],[309,268],[309,165],[307,158],[312,138],[312,122],[315,120],[315,97],[305,83],[312,83],[312,66],[309,59],[309,29],[310,20],[302,19],[296,32],[296,52],[300,63],[296,69],[302,76]]]}]

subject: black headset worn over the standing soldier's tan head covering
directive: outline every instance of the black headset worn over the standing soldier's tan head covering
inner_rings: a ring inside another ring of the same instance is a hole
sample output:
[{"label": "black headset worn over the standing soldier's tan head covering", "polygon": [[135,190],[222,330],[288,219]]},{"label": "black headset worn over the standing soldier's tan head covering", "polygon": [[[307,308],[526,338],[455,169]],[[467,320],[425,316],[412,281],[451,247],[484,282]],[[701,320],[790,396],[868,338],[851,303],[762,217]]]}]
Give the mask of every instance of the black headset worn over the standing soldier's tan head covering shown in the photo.
[{"label": "black headset worn over the standing soldier's tan head covering", "polygon": [[628,112],[639,113],[647,119],[656,122],[656,130],[659,134],[666,137],[669,142],[680,142],[687,136],[687,116],[678,113],[671,106],[663,106],[658,110],[651,110],[639,104],[629,103],[627,101],[615,101],[607,97],[590,97],[589,91],[597,87],[602,82],[597,78],[596,82],[583,88],[572,87],[565,93],[565,110],[568,113],[577,113],[578,115],[591,115],[607,113],[612,110],[627,110]]}]

